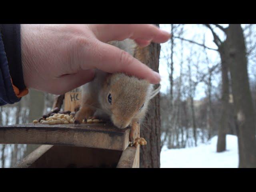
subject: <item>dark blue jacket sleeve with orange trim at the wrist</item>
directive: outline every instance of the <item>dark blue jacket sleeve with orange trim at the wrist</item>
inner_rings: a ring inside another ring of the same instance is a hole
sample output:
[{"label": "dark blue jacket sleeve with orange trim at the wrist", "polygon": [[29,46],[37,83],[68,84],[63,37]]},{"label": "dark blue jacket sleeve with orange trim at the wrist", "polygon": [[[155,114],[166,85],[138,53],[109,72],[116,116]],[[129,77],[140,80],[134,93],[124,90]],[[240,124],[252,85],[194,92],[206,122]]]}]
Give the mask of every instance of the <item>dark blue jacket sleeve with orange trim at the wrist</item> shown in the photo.
[{"label": "dark blue jacket sleeve with orange trim at the wrist", "polygon": [[20,25],[0,24],[0,106],[20,101],[13,84],[25,87],[20,50]]}]

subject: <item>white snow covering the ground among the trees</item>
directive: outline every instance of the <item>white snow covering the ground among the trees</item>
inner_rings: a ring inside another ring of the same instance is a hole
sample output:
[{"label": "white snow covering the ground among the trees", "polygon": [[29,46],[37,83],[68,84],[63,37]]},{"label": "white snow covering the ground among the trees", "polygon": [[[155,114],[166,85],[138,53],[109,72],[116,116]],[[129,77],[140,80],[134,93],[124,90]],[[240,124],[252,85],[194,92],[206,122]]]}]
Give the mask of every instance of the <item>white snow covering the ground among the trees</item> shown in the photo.
[{"label": "white snow covering the ground among the trees", "polygon": [[237,136],[226,135],[226,151],[217,153],[218,136],[198,147],[168,149],[162,148],[161,168],[238,168]]}]

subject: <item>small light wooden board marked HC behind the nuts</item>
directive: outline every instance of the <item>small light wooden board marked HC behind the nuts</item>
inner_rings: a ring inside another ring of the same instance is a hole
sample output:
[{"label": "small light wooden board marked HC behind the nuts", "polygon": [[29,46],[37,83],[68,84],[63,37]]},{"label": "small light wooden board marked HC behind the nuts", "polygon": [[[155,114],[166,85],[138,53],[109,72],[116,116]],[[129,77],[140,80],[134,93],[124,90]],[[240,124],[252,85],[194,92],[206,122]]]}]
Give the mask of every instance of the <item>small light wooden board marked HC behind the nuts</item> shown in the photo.
[{"label": "small light wooden board marked HC behind the nuts", "polygon": [[75,108],[80,106],[81,98],[81,92],[67,92],[65,94],[64,111],[75,111]]}]

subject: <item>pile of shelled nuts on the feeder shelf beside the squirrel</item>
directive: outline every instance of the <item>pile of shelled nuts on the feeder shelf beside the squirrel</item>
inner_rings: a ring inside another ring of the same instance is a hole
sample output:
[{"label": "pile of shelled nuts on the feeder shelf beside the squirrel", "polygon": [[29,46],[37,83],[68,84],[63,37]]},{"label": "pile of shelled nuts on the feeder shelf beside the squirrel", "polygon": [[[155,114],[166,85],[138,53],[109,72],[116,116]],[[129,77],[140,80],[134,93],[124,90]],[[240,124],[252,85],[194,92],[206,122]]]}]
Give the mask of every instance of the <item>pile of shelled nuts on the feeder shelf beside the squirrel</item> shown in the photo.
[{"label": "pile of shelled nuts on the feeder shelf beside the squirrel", "polygon": [[[60,112],[58,107],[52,109],[48,114],[43,115],[38,120],[34,120],[33,123],[42,123],[47,125],[56,124],[73,124],[76,112],[64,111]],[[86,122],[83,120],[82,123],[101,123],[102,120],[98,119],[88,119]]]}]

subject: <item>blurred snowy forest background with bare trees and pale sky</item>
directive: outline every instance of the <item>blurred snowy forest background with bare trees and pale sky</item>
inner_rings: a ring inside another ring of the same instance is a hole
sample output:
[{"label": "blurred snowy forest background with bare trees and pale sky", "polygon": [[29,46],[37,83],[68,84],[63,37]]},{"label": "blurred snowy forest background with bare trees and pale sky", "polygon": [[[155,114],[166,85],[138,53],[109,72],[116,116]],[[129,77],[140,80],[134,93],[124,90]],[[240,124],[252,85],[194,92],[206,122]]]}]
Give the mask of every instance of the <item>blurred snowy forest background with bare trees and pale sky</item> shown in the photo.
[{"label": "blurred snowy forest background with bare trees and pale sky", "polygon": [[[256,167],[256,25],[160,24],[160,167]],[[52,108],[36,90],[0,107],[0,126],[25,124]],[[150,129],[150,125],[148,125]],[[147,130],[145,130],[147,131]],[[0,144],[0,168],[38,145]]]}]

